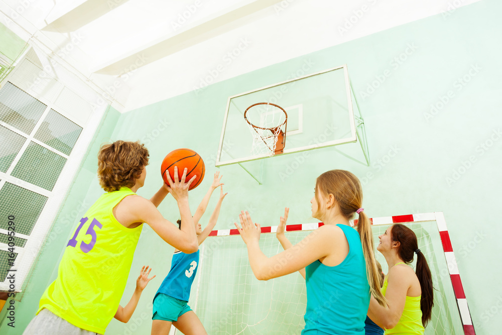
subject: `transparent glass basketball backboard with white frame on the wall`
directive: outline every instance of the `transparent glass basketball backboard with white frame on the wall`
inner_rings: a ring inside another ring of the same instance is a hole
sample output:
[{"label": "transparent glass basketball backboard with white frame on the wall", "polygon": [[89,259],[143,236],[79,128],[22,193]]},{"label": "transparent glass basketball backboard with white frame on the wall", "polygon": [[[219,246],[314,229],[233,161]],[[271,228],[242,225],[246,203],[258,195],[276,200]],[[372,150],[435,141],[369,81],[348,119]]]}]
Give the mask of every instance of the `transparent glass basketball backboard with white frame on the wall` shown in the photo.
[{"label": "transparent glass basketball backboard with white frame on the wall", "polygon": [[[281,155],[356,142],[356,125],[347,66],[339,66],[230,96],[227,101],[216,166],[270,157],[253,152],[253,128],[244,111],[258,102],[274,103],[288,115],[286,141]],[[261,121],[284,114],[262,105]],[[260,126],[260,125],[258,125]]]}]

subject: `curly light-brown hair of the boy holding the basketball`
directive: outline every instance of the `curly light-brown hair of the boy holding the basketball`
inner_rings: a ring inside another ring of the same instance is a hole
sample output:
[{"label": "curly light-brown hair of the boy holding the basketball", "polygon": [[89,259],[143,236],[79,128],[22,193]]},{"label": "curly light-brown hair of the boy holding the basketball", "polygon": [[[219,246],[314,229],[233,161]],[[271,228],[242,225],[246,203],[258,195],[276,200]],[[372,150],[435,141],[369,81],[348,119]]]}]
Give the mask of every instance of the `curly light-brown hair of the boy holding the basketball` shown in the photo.
[{"label": "curly light-brown hair of the boy holding the basketball", "polygon": [[148,149],[140,141],[104,144],[97,155],[99,184],[107,192],[133,187],[148,165]]}]

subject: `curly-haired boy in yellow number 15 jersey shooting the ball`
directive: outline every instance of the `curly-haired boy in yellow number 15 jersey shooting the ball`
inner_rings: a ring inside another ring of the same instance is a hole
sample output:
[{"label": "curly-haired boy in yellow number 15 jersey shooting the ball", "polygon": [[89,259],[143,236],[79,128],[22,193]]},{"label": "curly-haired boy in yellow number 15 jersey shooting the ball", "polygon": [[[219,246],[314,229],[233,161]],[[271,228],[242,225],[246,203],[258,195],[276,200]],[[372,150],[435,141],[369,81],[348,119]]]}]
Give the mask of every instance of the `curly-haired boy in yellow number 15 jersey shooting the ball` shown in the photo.
[{"label": "curly-haired boy in yellow number 15 jersey shooting the ball", "polygon": [[[136,191],[145,184],[148,157],[139,142],[116,141],[100,148],[99,183],[107,193],[80,219],[66,245],[58,277],[42,295],[37,316],[25,334],[103,334],[120,314],[119,302],[143,222],[173,247],[188,254],[198,250],[188,205],[188,188],[195,176],[185,183],[185,169],[180,181],[175,167],[171,187],[163,184],[150,200],[145,199]],[[187,222],[181,230],[156,208],[168,193]]]}]

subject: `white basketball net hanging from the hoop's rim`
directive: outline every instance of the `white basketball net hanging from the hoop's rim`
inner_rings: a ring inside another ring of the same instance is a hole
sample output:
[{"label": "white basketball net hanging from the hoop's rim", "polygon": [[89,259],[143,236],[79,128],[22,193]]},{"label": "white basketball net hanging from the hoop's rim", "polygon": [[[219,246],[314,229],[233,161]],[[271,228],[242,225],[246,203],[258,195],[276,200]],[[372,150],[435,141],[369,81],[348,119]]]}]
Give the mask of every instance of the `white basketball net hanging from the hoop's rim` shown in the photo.
[{"label": "white basketball net hanging from the hoop's rim", "polygon": [[279,134],[284,128],[281,126],[286,119],[284,112],[276,106],[261,104],[249,108],[246,118],[253,125],[260,127],[247,124],[253,137],[251,154],[274,156]]}]

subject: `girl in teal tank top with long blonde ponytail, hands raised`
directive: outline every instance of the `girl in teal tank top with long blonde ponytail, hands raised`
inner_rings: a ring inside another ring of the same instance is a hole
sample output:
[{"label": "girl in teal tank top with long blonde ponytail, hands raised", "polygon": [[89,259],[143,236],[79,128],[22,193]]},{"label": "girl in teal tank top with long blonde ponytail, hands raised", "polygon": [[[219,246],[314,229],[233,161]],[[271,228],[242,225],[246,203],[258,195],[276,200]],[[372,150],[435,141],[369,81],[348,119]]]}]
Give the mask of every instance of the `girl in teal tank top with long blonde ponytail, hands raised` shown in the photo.
[{"label": "girl in teal tank top with long blonde ponytail, hands raised", "polygon": [[[295,246],[284,237],[285,251],[268,258],[260,250],[260,225],[241,211],[235,224],[246,244],[249,264],[259,280],[305,271],[307,309],[302,334],[364,335],[370,293],[385,304],[373,254],[368,217],[362,211],[357,177],[331,170],[317,177],[312,216],[324,222]],[[281,225],[286,225],[286,208]],[[349,220],[359,214],[357,231]],[[284,233],[284,232],[283,232]]]}]

